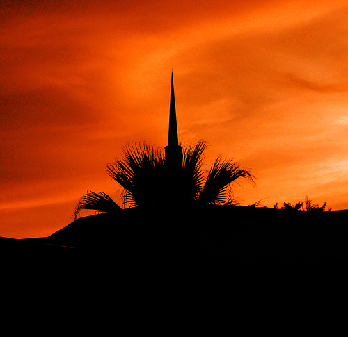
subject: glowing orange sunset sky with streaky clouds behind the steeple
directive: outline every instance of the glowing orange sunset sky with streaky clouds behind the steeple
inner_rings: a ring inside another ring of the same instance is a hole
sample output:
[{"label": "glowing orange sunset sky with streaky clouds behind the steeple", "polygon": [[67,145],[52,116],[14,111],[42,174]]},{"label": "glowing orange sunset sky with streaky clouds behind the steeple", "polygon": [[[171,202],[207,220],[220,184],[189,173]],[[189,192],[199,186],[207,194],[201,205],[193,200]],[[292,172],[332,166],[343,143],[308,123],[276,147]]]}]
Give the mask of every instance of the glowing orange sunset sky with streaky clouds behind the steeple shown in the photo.
[{"label": "glowing orange sunset sky with streaky clouds behind the steeple", "polygon": [[106,163],[166,145],[171,68],[182,144],[258,178],[235,197],[348,208],[347,1],[1,1],[0,22],[0,236],[54,233],[88,189],[119,202]]}]

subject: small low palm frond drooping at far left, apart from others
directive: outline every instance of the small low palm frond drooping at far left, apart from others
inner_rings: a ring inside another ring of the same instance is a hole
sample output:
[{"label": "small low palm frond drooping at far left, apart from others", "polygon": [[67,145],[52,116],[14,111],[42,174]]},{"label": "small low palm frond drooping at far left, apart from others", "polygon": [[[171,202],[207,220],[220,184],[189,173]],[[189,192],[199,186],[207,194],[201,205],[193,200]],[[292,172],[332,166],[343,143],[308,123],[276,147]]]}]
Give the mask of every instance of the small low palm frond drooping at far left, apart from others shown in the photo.
[{"label": "small low palm frond drooping at far left, apart from others", "polygon": [[102,213],[113,213],[119,211],[121,208],[116,202],[104,192],[88,192],[86,195],[81,197],[74,211],[74,219],[76,220],[79,216],[80,211],[83,209],[99,211]]}]

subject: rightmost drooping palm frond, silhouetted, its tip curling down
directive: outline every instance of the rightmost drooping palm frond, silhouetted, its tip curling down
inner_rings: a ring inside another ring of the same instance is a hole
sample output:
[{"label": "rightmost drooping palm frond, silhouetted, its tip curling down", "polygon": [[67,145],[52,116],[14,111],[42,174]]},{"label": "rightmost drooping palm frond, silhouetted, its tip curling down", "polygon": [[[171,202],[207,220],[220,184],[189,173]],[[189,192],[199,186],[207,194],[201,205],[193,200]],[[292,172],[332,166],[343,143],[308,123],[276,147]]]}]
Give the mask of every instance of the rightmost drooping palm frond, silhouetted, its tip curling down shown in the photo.
[{"label": "rightmost drooping palm frond, silhouetted, its tip curling down", "polygon": [[200,192],[199,201],[205,204],[224,204],[229,201],[232,193],[231,184],[239,178],[247,179],[254,183],[253,175],[242,165],[232,160],[216,158],[205,181],[205,186]]}]

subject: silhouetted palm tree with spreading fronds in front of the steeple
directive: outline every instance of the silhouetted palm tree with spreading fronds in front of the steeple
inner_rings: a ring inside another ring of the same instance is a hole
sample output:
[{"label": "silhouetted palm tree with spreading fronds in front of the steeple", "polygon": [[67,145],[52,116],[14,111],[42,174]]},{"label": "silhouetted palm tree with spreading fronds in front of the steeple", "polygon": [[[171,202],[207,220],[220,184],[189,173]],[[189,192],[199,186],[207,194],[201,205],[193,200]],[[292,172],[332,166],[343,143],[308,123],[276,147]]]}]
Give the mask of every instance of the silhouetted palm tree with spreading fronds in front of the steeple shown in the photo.
[{"label": "silhouetted palm tree with spreading fronds in front of the steeple", "polygon": [[[133,143],[123,149],[123,156],[107,165],[107,172],[123,188],[126,207],[168,207],[189,204],[226,204],[232,194],[232,183],[253,175],[242,165],[221,156],[210,168],[203,169],[207,145],[200,140],[182,149],[180,165],[168,165],[164,149],[146,143]],[[120,210],[104,192],[84,195],[74,212],[75,219],[83,209],[112,213]]]}]

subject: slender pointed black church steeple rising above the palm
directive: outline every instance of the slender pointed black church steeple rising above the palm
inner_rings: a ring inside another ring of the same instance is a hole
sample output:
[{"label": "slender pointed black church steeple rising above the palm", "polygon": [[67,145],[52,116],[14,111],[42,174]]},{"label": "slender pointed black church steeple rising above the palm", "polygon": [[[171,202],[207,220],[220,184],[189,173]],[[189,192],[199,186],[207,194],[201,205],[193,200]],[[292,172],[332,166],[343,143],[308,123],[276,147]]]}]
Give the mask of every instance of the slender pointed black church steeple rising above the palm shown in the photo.
[{"label": "slender pointed black church steeple rising above the palm", "polygon": [[177,138],[177,121],[175,110],[173,72],[171,78],[171,104],[169,108],[168,146],[166,146],[164,149],[166,150],[167,163],[181,163],[182,147],[179,145],[179,141]]}]

